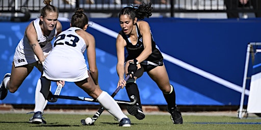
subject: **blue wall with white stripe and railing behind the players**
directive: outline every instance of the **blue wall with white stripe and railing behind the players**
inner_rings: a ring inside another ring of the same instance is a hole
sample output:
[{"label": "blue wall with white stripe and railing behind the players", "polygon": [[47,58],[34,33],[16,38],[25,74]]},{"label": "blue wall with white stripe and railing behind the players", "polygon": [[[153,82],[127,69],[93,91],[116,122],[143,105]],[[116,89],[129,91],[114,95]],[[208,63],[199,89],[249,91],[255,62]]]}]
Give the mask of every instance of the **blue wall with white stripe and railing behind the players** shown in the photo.
[{"label": "blue wall with white stripe and railing behind the players", "polygon": [[[99,84],[103,90],[113,93],[118,81],[115,47],[121,30],[118,12],[128,3],[136,5],[141,2],[152,3],[152,16],[144,20],[149,22],[154,40],[164,55],[180,111],[238,110],[242,92],[245,108],[253,66],[249,62],[245,69],[247,46],[261,42],[258,15],[261,2],[249,0],[242,5],[236,0],[54,0],[51,5],[59,9],[63,30],[69,27],[76,8],[85,10],[92,23],[87,31],[96,39]],[[0,76],[11,72],[14,50],[25,27],[40,16],[40,9],[44,6],[42,0],[0,0]],[[244,77],[245,70],[248,78]],[[39,77],[40,73],[34,69],[20,88],[15,93],[9,92],[0,104],[32,108]],[[144,106],[165,108],[162,92],[146,73],[137,83]],[[53,83],[51,91],[55,90]],[[61,95],[89,97],[73,83],[66,83]],[[115,99],[128,100],[125,89],[119,91]],[[88,107],[86,104],[97,105],[59,99],[48,106]]]}]

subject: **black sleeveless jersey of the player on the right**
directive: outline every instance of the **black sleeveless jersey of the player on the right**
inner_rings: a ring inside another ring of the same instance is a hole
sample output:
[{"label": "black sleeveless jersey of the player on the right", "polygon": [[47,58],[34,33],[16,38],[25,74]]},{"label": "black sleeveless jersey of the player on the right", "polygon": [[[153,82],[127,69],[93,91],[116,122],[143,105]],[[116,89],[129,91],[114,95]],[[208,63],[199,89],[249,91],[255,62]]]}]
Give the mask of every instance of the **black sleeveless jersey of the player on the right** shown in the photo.
[{"label": "black sleeveless jersey of the player on the right", "polygon": [[[131,43],[131,40],[129,40],[128,36],[124,34],[123,30],[121,30],[119,32],[119,34],[123,37],[123,39],[127,43],[126,50],[127,50],[128,53],[127,53],[126,61],[130,60],[130,59],[136,59],[141,54],[141,52],[144,50],[142,35],[140,33],[138,24],[136,23],[135,25],[136,25],[137,36],[138,36],[138,42],[137,42],[136,45],[133,45]],[[151,46],[152,46],[152,53],[145,60],[151,61],[151,62],[154,62],[154,63],[157,63],[157,64],[159,62],[162,62],[163,56],[162,56],[160,50],[158,49],[158,47],[156,47],[156,44],[155,44],[155,42],[152,38],[152,34],[151,34]]]}]

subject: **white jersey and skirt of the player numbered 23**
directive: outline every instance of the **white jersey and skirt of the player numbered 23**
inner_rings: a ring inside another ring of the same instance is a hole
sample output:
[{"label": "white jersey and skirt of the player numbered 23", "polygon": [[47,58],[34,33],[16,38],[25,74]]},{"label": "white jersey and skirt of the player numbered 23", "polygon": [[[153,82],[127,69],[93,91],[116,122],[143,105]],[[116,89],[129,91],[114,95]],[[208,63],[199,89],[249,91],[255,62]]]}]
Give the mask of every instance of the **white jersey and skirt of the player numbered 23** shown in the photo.
[{"label": "white jersey and skirt of the player numbered 23", "polygon": [[80,29],[70,27],[57,36],[53,49],[43,63],[43,76],[47,79],[77,82],[89,77],[83,55],[86,43],[75,32]]}]

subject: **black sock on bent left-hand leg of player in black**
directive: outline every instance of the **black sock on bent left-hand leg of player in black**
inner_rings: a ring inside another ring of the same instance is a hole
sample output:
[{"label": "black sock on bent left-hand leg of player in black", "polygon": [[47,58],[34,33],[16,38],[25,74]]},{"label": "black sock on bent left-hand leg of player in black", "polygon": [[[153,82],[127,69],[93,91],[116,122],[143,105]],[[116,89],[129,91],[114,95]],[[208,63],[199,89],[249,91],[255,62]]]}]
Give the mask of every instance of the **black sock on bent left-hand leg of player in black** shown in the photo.
[{"label": "black sock on bent left-hand leg of player in black", "polygon": [[126,84],[126,91],[128,94],[128,98],[131,102],[133,102],[133,99],[131,99],[131,96],[134,95],[137,98],[137,105],[142,108],[141,106],[141,99],[140,99],[140,92],[138,85],[135,82],[127,82]]}]

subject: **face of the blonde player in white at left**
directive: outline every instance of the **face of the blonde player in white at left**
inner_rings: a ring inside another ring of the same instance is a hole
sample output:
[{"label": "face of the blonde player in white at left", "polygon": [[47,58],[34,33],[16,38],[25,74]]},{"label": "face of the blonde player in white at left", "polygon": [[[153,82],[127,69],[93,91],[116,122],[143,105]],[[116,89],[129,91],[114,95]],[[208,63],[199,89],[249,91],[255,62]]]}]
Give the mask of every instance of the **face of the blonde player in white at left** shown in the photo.
[{"label": "face of the blonde player in white at left", "polygon": [[43,27],[46,30],[53,30],[57,24],[58,13],[57,12],[48,12],[45,17],[41,16],[43,21]]}]

